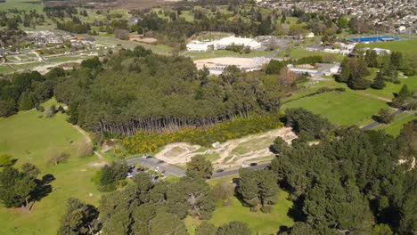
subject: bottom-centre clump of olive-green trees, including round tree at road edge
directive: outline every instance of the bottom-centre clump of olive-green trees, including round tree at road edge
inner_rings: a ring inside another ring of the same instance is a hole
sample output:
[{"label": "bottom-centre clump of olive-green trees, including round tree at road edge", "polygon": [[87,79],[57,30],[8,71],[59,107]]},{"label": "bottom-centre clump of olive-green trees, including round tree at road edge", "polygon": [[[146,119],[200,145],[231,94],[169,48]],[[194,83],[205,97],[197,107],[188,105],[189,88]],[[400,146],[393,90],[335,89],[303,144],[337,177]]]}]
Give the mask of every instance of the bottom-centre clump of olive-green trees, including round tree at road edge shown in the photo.
[{"label": "bottom-centre clump of olive-green trees, including round tree at road edge", "polygon": [[141,173],[125,188],[102,195],[98,208],[69,199],[58,234],[187,235],[186,216],[202,221],[195,234],[251,234],[246,223],[230,222],[220,227],[207,223],[217,200],[204,181],[211,171],[208,160],[194,157],[187,164],[186,176],[178,182],[155,181],[151,174]]}]

